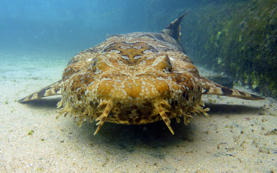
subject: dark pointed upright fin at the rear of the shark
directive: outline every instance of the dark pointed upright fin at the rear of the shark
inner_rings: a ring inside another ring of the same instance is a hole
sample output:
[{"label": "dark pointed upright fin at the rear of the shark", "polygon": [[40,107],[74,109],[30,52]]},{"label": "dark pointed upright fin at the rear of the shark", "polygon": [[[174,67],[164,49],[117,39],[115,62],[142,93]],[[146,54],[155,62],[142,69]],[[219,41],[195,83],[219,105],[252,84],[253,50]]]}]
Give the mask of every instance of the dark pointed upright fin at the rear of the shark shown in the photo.
[{"label": "dark pointed upright fin at the rear of the shark", "polygon": [[[187,12],[189,12],[189,11],[187,11]],[[171,36],[172,38],[174,38],[177,41],[180,41],[180,36],[181,36],[180,24],[181,24],[183,18],[185,17],[186,13],[184,13],[178,19],[171,22],[170,25],[168,25],[164,30],[162,30],[162,33]]]}]

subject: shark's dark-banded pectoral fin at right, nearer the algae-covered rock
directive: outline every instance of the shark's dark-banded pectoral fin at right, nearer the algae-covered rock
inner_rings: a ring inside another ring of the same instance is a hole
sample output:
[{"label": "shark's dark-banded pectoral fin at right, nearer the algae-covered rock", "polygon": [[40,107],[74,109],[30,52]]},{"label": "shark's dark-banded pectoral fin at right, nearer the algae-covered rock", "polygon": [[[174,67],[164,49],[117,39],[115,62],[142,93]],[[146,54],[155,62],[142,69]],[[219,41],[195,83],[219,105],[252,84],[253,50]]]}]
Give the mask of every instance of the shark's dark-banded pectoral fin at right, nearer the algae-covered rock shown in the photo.
[{"label": "shark's dark-banded pectoral fin at right, nearer the algae-covered rock", "polygon": [[264,100],[264,97],[260,97],[254,94],[249,94],[243,91],[234,90],[225,86],[219,85],[216,82],[210,81],[205,77],[202,77],[202,94],[215,94],[220,96],[235,97],[245,100]]}]

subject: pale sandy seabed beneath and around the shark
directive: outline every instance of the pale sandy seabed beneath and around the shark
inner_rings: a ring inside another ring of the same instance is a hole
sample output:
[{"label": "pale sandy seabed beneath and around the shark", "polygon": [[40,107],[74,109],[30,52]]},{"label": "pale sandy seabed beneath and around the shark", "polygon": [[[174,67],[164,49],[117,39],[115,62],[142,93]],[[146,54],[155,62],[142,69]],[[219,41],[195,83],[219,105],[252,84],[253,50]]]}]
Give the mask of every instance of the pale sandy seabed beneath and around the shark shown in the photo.
[{"label": "pale sandy seabed beneath and around the shark", "polygon": [[[0,55],[0,172],[277,172],[277,102],[203,96],[189,125],[55,120],[60,96],[17,100],[61,79],[70,57]],[[199,68],[201,74],[213,72]],[[241,91],[252,93],[246,88]],[[255,93],[254,93],[255,94]]]}]

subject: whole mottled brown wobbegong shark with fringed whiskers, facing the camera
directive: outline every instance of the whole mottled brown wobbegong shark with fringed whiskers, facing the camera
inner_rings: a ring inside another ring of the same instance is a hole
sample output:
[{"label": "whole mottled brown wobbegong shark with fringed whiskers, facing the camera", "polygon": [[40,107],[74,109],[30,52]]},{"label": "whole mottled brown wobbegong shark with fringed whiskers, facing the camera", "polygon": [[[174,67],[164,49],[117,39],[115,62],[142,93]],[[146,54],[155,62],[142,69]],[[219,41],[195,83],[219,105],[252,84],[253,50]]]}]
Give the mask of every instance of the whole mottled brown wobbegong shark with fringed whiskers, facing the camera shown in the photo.
[{"label": "whole mottled brown wobbegong shark with fringed whiskers, facing the camera", "polygon": [[[187,13],[187,12],[186,12]],[[192,113],[206,113],[202,94],[262,100],[263,97],[227,88],[199,75],[180,44],[184,13],[161,33],[115,34],[77,53],[62,79],[18,102],[61,95],[58,116],[79,117],[80,126],[90,119],[119,124],[145,124],[163,120],[174,134],[170,119],[184,124]]]}]

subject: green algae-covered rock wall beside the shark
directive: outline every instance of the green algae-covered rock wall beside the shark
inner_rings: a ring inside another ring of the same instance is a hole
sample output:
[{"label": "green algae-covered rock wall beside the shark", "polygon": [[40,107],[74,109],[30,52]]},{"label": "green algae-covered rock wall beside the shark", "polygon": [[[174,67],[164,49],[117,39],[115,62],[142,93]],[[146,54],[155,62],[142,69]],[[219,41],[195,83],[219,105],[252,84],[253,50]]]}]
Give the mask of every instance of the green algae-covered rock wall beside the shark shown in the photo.
[{"label": "green algae-covered rock wall beside the shark", "polygon": [[184,20],[181,43],[194,62],[277,97],[277,1],[207,4]]}]

